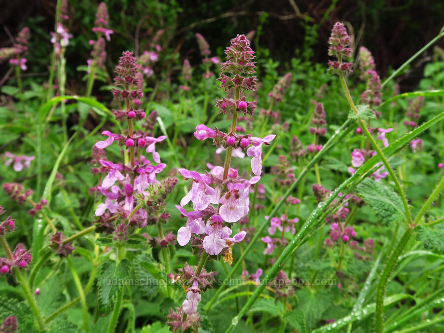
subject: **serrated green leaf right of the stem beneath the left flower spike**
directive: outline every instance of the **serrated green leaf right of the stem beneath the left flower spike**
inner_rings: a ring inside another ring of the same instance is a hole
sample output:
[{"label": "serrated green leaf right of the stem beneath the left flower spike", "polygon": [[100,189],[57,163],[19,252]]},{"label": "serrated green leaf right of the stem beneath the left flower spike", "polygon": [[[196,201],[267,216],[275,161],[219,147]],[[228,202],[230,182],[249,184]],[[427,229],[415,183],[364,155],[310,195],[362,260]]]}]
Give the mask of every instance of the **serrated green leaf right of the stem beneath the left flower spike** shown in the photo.
[{"label": "serrated green leaf right of the stem beneath the left flower spike", "polygon": [[[138,255],[134,272],[136,278],[140,280],[141,290],[148,300],[156,296],[159,291],[159,280],[156,276],[159,276],[159,272],[154,258],[147,253]],[[142,283],[142,281],[144,282]]]}]

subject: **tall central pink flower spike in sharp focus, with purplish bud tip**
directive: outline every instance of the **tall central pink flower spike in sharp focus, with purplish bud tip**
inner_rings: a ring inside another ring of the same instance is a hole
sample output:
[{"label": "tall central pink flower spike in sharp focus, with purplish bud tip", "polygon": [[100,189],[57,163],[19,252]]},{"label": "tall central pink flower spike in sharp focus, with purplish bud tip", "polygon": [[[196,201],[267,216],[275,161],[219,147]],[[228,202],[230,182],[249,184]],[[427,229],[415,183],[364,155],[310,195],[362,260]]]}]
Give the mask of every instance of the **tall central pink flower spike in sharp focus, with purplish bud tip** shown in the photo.
[{"label": "tall central pink flower spike in sharp focus, with purplish bud tip", "polygon": [[[198,37],[202,54],[209,49],[203,37]],[[237,35],[226,48],[227,61],[222,63],[222,74],[219,78],[221,88],[225,91],[234,91],[234,99],[222,98],[217,100],[219,113],[232,113],[232,126],[229,133],[217,128],[211,129],[204,124],[198,125],[194,136],[198,140],[213,139],[213,143],[226,150],[224,167],[208,164],[210,172],[199,173],[186,169],[179,169],[185,180],[191,179],[192,185],[188,193],[182,198],[180,206],[176,206],[181,216],[186,218],[185,226],[178,230],[177,241],[185,246],[191,240],[191,246],[197,250],[200,257],[196,270],[185,264],[183,269],[189,279],[186,299],[181,308],[170,310],[169,325],[174,331],[198,325],[197,303],[200,301],[200,292],[211,286],[205,276],[203,265],[208,256],[223,256],[225,262],[232,263],[232,247],[246,237],[247,232],[241,230],[232,235],[232,225],[247,216],[250,211],[249,193],[253,185],[259,182],[262,173],[262,146],[269,144],[275,135],[265,138],[253,137],[251,134],[236,135],[236,122],[238,113],[253,115],[256,109],[255,102],[247,102],[246,97],[240,97],[242,89],[255,90],[254,51],[250,41],[245,35]],[[230,167],[231,156],[234,149],[245,150],[251,156],[251,169],[255,175],[250,179],[239,176],[238,170]],[[192,210],[185,209],[185,205],[192,203]],[[214,257],[213,257],[214,258]],[[214,272],[213,272],[214,274]],[[184,277],[181,277],[183,279]],[[212,275],[211,275],[212,277]],[[184,315],[185,314],[185,315]],[[194,325],[194,326],[193,326]]]}]

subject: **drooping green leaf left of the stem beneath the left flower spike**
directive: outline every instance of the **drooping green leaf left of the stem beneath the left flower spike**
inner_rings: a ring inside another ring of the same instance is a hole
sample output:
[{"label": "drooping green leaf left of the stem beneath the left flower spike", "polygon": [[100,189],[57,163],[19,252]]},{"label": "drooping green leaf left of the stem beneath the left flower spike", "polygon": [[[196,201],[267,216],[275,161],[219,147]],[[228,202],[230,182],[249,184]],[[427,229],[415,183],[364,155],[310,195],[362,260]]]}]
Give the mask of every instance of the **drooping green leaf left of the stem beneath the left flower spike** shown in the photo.
[{"label": "drooping green leaf left of the stem beneath the left flower spike", "polygon": [[104,261],[100,267],[97,278],[99,288],[99,305],[104,313],[108,313],[114,305],[117,292],[125,284],[131,270],[131,264],[127,259],[120,262],[114,260]]}]

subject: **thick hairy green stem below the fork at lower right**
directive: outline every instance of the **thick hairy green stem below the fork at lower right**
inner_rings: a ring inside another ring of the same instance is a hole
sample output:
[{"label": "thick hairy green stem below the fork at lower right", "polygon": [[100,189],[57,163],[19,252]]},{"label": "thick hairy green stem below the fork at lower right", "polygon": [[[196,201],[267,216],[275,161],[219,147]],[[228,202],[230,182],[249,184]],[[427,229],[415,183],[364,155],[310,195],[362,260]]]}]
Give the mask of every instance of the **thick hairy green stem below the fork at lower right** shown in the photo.
[{"label": "thick hairy green stem below the fork at lower right", "polygon": [[382,333],[384,329],[384,295],[385,288],[387,287],[387,282],[392,272],[395,263],[398,261],[398,257],[403,252],[411,234],[413,233],[413,228],[408,227],[403,237],[398,243],[398,246],[393,251],[392,255],[387,261],[387,264],[381,274],[379,279],[378,289],[376,291],[376,311],[375,311],[375,332]]}]

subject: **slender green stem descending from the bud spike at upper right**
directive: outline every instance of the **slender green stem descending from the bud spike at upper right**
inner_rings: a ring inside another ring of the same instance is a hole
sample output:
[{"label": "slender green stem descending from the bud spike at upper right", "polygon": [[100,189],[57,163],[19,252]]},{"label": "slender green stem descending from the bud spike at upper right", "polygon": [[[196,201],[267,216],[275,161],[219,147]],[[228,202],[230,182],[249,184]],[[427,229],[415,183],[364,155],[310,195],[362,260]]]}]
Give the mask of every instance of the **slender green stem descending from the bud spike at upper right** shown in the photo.
[{"label": "slender green stem descending from the bud spike at upper right", "polygon": [[[344,89],[345,92],[345,97],[347,98],[348,103],[350,104],[353,112],[355,112],[355,114],[358,114],[358,110],[356,110],[356,106],[351,98],[350,92],[348,90],[347,87],[347,83],[345,82],[345,78],[344,78],[344,74],[342,72],[339,72],[339,79],[342,85],[342,88]],[[387,171],[389,172],[393,182],[396,185],[396,188],[398,190],[399,195],[401,196],[401,200],[403,201],[403,205],[404,205],[404,210],[406,212],[406,216],[407,216],[407,223],[411,223],[411,216],[410,216],[410,210],[408,209],[408,203],[407,203],[407,198],[406,195],[401,187],[401,184],[399,183],[398,178],[396,177],[395,173],[392,170],[392,167],[390,166],[390,164],[388,163],[387,159],[385,158],[384,154],[382,153],[382,150],[378,147],[378,145],[376,144],[376,142],[374,141],[373,137],[371,136],[369,129],[367,128],[366,124],[364,123],[364,121],[362,119],[359,119],[359,123],[362,127],[362,129],[364,130],[364,132],[366,133],[367,138],[370,140],[371,145],[373,146],[373,148],[376,150],[379,158],[382,160],[382,163],[384,164],[384,166],[386,167]]]}]

